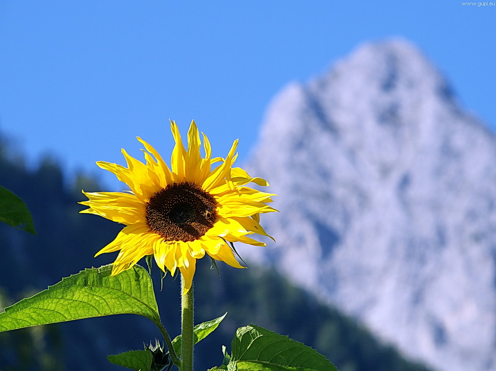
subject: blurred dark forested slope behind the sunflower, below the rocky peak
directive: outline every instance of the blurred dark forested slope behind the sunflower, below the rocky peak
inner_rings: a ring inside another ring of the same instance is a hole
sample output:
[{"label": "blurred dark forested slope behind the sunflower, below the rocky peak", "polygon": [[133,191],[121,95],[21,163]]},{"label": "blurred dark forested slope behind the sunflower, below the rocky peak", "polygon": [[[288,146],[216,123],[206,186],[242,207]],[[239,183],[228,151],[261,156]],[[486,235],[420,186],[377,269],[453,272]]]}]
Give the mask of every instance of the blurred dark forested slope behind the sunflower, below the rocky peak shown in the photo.
[{"label": "blurred dark forested slope behind the sunflower, below the rocky peak", "polygon": [[[122,226],[83,209],[81,189],[105,191],[91,177],[64,178],[61,166],[45,158],[26,168],[0,137],[0,185],[21,197],[33,214],[38,235],[0,225],[0,311],[85,267],[109,264],[115,256],[93,255],[114,239]],[[117,254],[117,253],[115,253]],[[142,262],[142,265],[145,265]],[[427,371],[334,308],[292,286],[274,270],[235,269],[209,259],[197,264],[195,322],[222,316],[224,321],[195,347],[195,369],[222,363],[221,345],[230,350],[238,327],[254,323],[289,335],[325,355],[340,371]],[[152,270],[161,317],[171,336],[180,332],[180,279],[166,276],[161,290]],[[120,315],[0,333],[1,371],[122,370],[106,356],[142,349],[160,331],[146,318]]]}]

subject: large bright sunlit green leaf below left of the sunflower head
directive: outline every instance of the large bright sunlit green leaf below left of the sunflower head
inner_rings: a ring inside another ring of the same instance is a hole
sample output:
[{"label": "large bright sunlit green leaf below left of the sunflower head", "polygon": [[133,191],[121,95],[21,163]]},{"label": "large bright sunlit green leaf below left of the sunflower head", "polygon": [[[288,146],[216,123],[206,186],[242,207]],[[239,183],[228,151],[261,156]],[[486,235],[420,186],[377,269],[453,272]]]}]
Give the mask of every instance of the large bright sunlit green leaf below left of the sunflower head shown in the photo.
[{"label": "large bright sunlit green leaf below left of the sunflower head", "polygon": [[118,314],[160,322],[152,280],[135,265],[111,276],[112,265],[87,268],[0,313],[0,332],[39,324]]}]

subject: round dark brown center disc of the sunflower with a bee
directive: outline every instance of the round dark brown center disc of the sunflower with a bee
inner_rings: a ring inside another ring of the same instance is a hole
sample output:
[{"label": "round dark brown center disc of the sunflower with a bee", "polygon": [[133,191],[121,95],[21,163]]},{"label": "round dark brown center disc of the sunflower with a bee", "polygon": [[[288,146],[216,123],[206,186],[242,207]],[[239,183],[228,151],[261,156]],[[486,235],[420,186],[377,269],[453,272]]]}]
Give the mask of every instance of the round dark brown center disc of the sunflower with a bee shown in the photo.
[{"label": "round dark brown center disc of the sunflower with a bee", "polygon": [[213,227],[216,201],[196,184],[169,184],[146,204],[146,222],[166,241],[194,241]]}]

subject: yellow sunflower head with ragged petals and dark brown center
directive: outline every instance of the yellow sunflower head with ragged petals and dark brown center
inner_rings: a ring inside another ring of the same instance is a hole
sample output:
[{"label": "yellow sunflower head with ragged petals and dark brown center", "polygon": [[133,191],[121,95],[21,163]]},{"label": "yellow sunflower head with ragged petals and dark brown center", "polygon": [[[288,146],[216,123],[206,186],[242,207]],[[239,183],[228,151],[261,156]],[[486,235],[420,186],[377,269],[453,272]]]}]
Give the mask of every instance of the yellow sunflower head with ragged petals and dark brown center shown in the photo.
[{"label": "yellow sunflower head with ragged petals and dark brown center", "polygon": [[[97,165],[114,173],[130,188],[129,192],[84,192],[88,201],[80,204],[125,227],[114,241],[96,255],[120,250],[113,263],[112,275],[152,255],[157,265],[174,275],[177,268],[184,276],[183,294],[191,287],[196,260],[205,254],[236,268],[233,242],[254,246],[264,243],[250,237],[268,236],[259,224],[259,214],[276,211],[266,203],[274,194],[247,187],[252,182],[268,186],[261,178],[252,178],[239,167],[233,167],[238,140],[226,159],[211,158],[210,143],[203,135],[205,157],[200,154],[200,135],[191,121],[187,134],[187,151],[178,126],[171,121],[176,145],[169,168],[157,151],[137,137],[144,146],[146,163],[122,150],[127,167],[98,161]],[[217,164],[212,169],[212,164]],[[272,238],[272,237],[270,237]],[[231,246],[228,244],[231,243]]]}]

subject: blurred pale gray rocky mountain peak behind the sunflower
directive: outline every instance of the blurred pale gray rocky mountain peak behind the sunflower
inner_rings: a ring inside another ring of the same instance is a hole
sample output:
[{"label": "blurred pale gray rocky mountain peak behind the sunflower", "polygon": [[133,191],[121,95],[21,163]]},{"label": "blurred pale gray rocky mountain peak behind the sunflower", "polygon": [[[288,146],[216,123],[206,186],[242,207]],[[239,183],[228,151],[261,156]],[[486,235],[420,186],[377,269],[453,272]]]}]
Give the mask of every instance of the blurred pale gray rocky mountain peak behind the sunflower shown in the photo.
[{"label": "blurred pale gray rocky mountain peak behind the sunflower", "polygon": [[404,40],[273,100],[248,164],[277,243],[241,247],[438,370],[496,370],[496,138]]}]

